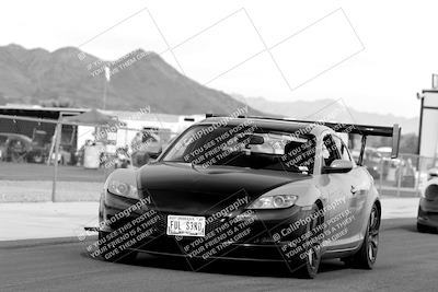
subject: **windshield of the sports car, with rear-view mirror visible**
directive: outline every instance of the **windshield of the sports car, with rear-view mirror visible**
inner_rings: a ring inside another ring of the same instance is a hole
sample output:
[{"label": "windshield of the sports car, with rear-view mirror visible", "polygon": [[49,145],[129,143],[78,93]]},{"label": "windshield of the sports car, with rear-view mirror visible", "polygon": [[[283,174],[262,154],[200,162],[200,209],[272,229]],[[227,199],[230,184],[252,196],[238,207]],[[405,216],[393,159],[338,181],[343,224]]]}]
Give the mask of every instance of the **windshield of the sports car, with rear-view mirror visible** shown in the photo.
[{"label": "windshield of the sports car, with rear-view mirror visible", "polygon": [[250,125],[198,125],[178,137],[162,161],[311,174],[314,141],[312,135]]}]

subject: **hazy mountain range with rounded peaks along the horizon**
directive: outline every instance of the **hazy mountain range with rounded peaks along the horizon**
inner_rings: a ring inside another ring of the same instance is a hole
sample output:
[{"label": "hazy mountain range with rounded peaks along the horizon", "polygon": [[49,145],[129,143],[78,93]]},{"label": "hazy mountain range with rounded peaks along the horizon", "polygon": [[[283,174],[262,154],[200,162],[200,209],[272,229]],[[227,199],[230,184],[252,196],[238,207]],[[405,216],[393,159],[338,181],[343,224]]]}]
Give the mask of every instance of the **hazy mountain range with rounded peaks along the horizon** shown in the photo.
[{"label": "hazy mountain range with rounded peaks along the horizon", "polygon": [[[104,67],[110,68],[111,82],[105,81]],[[403,133],[418,131],[418,118],[365,113],[335,100],[273,102],[229,95],[183,75],[153,51],[136,49],[108,61],[76,47],[50,52],[14,44],[0,46],[0,104],[68,100],[71,106],[102,108],[105,90],[107,109],[136,110],[150,106],[162,114],[226,114],[247,105],[251,115],[318,119],[321,113],[342,108],[336,110],[335,121],[400,124]]]}]

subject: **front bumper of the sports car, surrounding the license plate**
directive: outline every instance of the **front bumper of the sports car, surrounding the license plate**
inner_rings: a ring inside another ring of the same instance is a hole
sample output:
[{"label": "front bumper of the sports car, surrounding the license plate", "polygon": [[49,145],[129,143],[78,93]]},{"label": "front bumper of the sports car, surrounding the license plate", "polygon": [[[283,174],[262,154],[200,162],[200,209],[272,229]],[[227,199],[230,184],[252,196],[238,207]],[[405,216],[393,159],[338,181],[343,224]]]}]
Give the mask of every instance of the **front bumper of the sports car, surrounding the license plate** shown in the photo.
[{"label": "front bumper of the sports car, surrounding the license plate", "polygon": [[[126,225],[132,225],[132,222],[138,222],[151,209],[136,210],[130,212],[129,217],[114,220],[117,213],[123,212],[130,206],[138,202],[135,199],[128,199],[112,194],[106,194],[105,199],[101,202],[101,221],[113,222],[112,224],[100,224],[100,232],[104,236],[111,236],[117,231],[129,233],[129,230],[124,229]],[[166,218],[168,213],[153,210],[152,224],[148,229],[140,229],[135,234],[135,241],[128,246],[131,250],[145,252],[155,255],[181,256],[193,259],[243,259],[243,260],[295,260],[295,253],[290,253],[295,246],[291,242],[297,242],[297,238],[302,237],[307,232],[306,220],[309,218],[309,208],[293,206],[281,210],[257,210],[251,214],[251,224],[249,227],[240,230],[240,234],[245,233],[245,236],[237,236],[227,238],[221,245],[209,246],[207,240],[201,244],[196,244],[200,241],[199,237],[192,236],[173,236],[166,234]],[[181,214],[172,212],[172,214]],[[185,214],[199,215],[199,214]],[[249,217],[243,218],[246,220]],[[223,219],[222,219],[223,220]],[[231,220],[231,218],[227,218]],[[143,221],[145,222],[145,221]],[[242,221],[243,222],[243,221]],[[297,223],[298,222],[298,223]],[[220,229],[226,222],[214,221],[206,225],[206,236],[211,235],[212,230]],[[223,230],[222,233],[216,233],[210,236],[210,240],[220,237],[221,234],[229,230]],[[235,231],[235,230],[234,230]],[[203,249],[199,252],[199,249]],[[215,250],[214,250],[215,249]],[[211,252],[214,250],[214,252]],[[291,256],[292,255],[292,256]]]}]

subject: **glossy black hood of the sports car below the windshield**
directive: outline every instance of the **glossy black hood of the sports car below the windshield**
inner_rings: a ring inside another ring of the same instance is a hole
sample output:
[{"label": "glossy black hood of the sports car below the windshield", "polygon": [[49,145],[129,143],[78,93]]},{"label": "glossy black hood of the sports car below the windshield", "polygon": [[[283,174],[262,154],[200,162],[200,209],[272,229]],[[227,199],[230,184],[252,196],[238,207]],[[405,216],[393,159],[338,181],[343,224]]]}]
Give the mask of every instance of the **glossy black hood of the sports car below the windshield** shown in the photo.
[{"label": "glossy black hood of the sports car below the windshield", "polygon": [[230,166],[203,168],[169,162],[139,170],[140,196],[149,196],[158,210],[181,214],[212,213],[230,206],[242,209],[270,189],[309,178],[290,172]]}]

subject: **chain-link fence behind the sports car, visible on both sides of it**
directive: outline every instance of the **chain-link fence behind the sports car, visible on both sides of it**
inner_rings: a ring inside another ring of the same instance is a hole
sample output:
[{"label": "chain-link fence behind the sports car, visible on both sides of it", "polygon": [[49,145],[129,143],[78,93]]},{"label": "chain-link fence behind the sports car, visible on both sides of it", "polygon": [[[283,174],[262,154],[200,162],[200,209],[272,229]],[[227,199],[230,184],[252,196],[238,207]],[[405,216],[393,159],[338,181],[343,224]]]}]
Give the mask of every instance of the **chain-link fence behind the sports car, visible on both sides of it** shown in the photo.
[{"label": "chain-link fence behind the sports car, visible on both sides of it", "polygon": [[[176,135],[169,129],[149,128],[160,142],[148,140],[143,143],[139,140],[139,129],[118,127],[115,133],[104,131],[101,138],[108,140],[112,136],[113,142],[101,145],[105,150],[97,151],[97,167],[89,170],[83,167],[85,153],[81,148],[82,141],[94,140],[102,130],[58,125],[61,135],[56,152],[57,120],[2,115],[0,121],[0,202],[97,200],[106,176],[117,167],[114,157],[118,148],[127,145],[132,163],[141,165],[153,155],[145,157],[136,155],[136,152],[147,147],[150,153],[158,154]],[[99,147],[99,143],[94,145]],[[108,148],[113,150],[108,151]],[[415,154],[400,154],[399,159],[391,160],[388,155],[367,150],[364,164],[381,195],[413,197],[419,196],[427,180],[427,171],[437,167],[438,160]],[[55,186],[56,194],[53,194]]]}]

